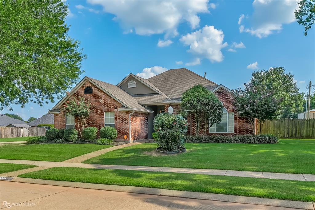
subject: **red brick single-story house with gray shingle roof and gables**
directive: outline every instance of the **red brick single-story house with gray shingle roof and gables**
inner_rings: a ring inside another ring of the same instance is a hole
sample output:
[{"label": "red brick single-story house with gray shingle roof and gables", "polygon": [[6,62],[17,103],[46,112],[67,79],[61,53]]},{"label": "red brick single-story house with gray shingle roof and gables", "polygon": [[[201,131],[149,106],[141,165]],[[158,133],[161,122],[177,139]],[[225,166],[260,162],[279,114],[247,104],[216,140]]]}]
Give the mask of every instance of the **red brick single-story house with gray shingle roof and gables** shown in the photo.
[{"label": "red brick single-story house with gray shingle roof and gables", "polygon": [[[167,112],[169,106],[174,114],[180,111],[180,98],[184,91],[202,84],[212,91],[225,107],[221,123],[213,125],[207,135],[252,134],[248,118],[238,116],[233,110],[233,94],[224,85],[218,85],[186,69],[171,69],[159,75],[144,79],[129,74],[117,85],[84,77],[70,92],[71,96],[89,98],[93,111],[86,120],[86,126],[112,126],[117,129],[117,139],[128,136],[129,141],[151,139],[153,118],[158,113]],[[77,119],[60,111],[68,99],[66,95],[49,113],[54,114],[55,128],[76,128]],[[187,135],[195,134],[195,117],[187,115]]]}]

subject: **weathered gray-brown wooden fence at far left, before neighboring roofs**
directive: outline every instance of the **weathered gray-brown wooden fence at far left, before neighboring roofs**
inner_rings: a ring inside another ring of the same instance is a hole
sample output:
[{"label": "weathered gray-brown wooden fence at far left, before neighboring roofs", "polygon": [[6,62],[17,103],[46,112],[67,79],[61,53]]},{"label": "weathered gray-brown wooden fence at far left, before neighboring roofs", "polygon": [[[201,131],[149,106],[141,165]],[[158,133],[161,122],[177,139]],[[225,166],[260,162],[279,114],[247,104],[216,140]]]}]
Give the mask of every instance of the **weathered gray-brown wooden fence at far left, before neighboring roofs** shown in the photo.
[{"label": "weathered gray-brown wooden fence at far left, before neighboring roofs", "polygon": [[46,128],[0,128],[0,138],[44,136]]}]

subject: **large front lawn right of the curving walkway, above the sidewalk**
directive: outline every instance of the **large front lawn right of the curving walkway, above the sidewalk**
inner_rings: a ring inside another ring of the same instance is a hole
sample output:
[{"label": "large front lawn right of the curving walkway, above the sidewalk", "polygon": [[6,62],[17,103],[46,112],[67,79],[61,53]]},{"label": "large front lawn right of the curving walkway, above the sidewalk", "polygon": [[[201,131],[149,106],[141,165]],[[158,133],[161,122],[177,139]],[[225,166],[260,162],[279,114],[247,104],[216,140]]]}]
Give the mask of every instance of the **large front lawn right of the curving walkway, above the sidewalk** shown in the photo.
[{"label": "large front lawn right of the curving walkway, above the sidewalk", "polygon": [[314,139],[281,139],[278,144],[185,143],[185,153],[148,154],[156,147],[155,143],[134,145],[84,163],[315,174]]}]

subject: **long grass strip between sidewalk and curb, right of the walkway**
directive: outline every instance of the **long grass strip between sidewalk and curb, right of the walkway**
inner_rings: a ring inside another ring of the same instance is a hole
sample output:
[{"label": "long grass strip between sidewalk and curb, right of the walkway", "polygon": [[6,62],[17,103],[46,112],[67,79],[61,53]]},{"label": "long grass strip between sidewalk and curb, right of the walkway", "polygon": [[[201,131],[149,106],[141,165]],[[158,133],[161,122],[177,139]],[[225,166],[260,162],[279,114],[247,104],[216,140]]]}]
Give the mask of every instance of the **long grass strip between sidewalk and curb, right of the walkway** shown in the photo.
[{"label": "long grass strip between sidewalk and curb, right of the walkway", "polygon": [[56,167],[19,177],[315,201],[315,182],[189,173]]}]

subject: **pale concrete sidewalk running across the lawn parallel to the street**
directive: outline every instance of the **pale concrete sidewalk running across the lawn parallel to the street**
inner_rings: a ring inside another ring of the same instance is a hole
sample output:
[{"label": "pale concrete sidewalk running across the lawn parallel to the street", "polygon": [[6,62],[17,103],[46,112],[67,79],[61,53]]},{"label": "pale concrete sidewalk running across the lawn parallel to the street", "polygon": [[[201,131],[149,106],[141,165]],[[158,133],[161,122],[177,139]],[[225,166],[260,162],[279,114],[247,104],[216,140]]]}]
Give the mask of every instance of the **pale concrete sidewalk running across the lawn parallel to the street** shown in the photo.
[{"label": "pale concrete sidewalk running across the lawn parallel to the street", "polygon": [[[109,149],[109,148],[107,148]],[[71,160],[71,159],[70,159]],[[150,166],[121,166],[121,165],[101,165],[75,162],[49,162],[49,161],[29,161],[29,160],[6,160],[0,159],[2,163],[29,164],[43,167],[79,167],[79,168],[97,168],[97,169],[121,169],[135,171],[156,171],[156,172],[174,172],[174,173],[197,173],[221,176],[253,177],[265,179],[288,179],[297,181],[315,181],[314,174],[295,174],[295,173],[270,173],[255,171],[232,171],[216,169],[196,169],[196,168],[171,168],[171,167],[150,167]],[[25,169],[24,169],[25,170]],[[20,170],[22,171],[22,170]],[[16,173],[18,173],[17,171]],[[11,172],[9,172],[11,173]],[[22,173],[19,173],[22,174]],[[5,175],[5,174],[0,174]],[[9,175],[5,175],[9,176]]]}]

